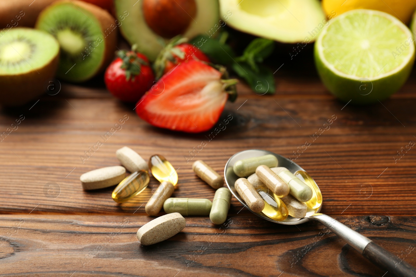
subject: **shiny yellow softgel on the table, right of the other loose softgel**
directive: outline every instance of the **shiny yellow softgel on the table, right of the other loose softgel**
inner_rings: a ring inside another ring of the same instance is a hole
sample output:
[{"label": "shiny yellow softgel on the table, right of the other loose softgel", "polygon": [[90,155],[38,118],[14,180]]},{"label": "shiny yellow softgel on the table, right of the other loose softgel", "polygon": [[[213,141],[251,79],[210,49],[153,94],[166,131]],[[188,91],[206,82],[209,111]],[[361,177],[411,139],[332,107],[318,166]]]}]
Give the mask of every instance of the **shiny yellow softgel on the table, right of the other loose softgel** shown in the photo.
[{"label": "shiny yellow softgel on the table, right of the other loose softgel", "polygon": [[178,184],[178,174],[172,164],[162,155],[153,155],[149,158],[149,168],[153,176],[159,181],[168,181],[176,186]]}]

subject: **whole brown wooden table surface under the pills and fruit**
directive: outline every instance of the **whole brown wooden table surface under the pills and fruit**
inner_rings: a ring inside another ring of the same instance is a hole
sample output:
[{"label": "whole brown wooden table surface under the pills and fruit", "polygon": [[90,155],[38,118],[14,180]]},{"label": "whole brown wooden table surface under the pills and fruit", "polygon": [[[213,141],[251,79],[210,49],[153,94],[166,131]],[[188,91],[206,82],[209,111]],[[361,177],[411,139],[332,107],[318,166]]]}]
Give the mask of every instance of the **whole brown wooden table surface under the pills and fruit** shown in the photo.
[{"label": "whole brown wooden table surface under the pills and fruit", "polygon": [[[233,119],[211,140],[208,132],[189,135],[148,125],[136,116],[134,105],[116,101],[94,81],[84,86],[62,84],[56,95],[21,108],[3,108],[0,133],[21,121],[0,142],[0,273],[74,277],[385,273],[318,223],[273,224],[235,199],[222,226],[207,217],[187,217],[187,226],[178,235],[141,246],[135,233],[154,218],[146,216],[144,205],[158,182],[152,177],[142,194],[119,205],[111,199],[113,188],[83,191],[79,181],[84,172],[119,165],[115,151],[123,146],[145,159],[164,155],[178,169],[176,197],[213,198],[213,189],[192,172],[196,159],[222,175],[228,158],[245,149],[296,158],[322,191],[323,213],[415,266],[416,150],[409,147],[416,141],[415,74],[391,99],[366,107],[335,100],[310,66],[288,71],[282,67],[275,75],[274,96],[255,95],[245,84],[238,85],[238,100],[227,103],[223,113]],[[59,89],[59,83],[55,85],[54,92]],[[102,140],[122,118],[128,119]],[[326,125],[329,119],[333,122]],[[98,140],[103,145],[84,156]],[[202,141],[207,145],[194,152]],[[305,142],[310,146],[305,148]],[[311,250],[303,251],[306,245]]]}]

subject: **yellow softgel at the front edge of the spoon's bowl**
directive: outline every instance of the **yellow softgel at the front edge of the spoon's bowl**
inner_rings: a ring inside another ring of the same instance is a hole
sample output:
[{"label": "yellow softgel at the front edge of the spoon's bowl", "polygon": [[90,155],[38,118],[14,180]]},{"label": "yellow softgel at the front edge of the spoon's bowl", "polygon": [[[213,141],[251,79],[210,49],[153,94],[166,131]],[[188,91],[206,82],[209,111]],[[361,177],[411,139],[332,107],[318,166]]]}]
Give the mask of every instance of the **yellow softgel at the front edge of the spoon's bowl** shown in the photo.
[{"label": "yellow softgel at the front edge of the spoon's bowl", "polygon": [[264,201],[264,208],[260,213],[277,221],[287,218],[289,211],[283,201],[267,188],[257,189],[258,194]]}]

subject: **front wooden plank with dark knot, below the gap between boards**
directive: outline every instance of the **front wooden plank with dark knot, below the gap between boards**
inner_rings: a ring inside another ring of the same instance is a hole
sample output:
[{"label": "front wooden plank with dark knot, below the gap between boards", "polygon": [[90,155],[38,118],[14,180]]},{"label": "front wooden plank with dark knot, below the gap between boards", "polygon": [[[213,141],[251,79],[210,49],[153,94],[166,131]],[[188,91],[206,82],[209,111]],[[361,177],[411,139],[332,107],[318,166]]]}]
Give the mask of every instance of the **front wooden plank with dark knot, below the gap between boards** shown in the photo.
[{"label": "front wooden plank with dark knot, below the gap between boards", "polygon": [[[0,216],[2,276],[388,277],[318,223],[283,226],[231,214],[222,226],[187,217],[171,239],[141,246],[147,216]],[[416,264],[415,217],[336,217]],[[383,221],[384,220],[384,221]],[[379,224],[379,225],[377,225]],[[382,225],[380,225],[382,224]]]}]

